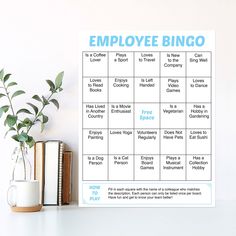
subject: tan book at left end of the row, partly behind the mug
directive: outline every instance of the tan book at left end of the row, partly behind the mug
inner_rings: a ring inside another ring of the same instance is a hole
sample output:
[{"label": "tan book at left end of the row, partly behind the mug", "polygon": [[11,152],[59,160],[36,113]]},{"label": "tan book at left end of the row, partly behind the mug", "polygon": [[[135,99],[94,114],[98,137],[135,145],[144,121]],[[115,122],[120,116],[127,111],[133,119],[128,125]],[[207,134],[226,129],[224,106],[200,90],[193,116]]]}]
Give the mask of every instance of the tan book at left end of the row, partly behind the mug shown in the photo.
[{"label": "tan book at left end of the row, partly behind the mug", "polygon": [[44,199],[44,142],[34,144],[34,179],[39,181],[39,202]]}]

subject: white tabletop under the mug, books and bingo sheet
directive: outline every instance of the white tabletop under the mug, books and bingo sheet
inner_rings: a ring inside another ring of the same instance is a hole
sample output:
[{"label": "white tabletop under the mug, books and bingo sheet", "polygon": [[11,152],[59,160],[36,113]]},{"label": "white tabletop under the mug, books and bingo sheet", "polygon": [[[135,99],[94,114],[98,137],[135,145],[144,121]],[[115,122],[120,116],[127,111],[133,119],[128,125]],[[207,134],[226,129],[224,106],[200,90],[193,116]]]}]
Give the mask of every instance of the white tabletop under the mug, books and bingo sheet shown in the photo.
[{"label": "white tabletop under the mug, books and bingo sheet", "polygon": [[1,236],[180,235],[236,236],[236,201],[215,208],[44,207],[13,213],[0,204]]}]

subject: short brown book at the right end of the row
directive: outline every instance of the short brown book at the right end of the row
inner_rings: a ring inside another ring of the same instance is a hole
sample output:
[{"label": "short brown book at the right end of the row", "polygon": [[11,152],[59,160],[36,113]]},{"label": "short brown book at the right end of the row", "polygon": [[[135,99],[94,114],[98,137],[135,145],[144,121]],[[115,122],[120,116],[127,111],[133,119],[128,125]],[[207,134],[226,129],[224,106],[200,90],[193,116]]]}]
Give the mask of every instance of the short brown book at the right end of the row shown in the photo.
[{"label": "short brown book at the right end of the row", "polygon": [[63,153],[62,204],[71,202],[72,192],[72,152]]}]

